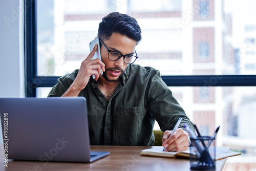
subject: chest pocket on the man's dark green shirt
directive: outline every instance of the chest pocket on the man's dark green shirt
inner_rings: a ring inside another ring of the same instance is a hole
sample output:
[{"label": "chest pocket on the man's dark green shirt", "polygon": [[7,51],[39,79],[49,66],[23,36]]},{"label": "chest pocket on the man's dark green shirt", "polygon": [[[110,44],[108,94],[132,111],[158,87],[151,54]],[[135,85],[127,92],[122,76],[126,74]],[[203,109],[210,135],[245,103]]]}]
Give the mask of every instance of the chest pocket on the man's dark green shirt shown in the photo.
[{"label": "chest pocket on the man's dark green shirt", "polygon": [[143,107],[116,108],[116,144],[137,145],[140,135]]}]

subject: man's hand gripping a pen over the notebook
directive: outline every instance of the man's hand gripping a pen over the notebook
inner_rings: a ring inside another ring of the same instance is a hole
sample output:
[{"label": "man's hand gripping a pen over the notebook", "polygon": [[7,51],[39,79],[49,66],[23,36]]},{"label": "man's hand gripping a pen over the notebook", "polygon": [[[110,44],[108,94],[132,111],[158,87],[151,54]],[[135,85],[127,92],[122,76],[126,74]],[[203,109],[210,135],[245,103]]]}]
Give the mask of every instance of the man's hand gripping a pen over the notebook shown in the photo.
[{"label": "man's hand gripping a pen over the notebook", "polygon": [[[188,136],[182,129],[173,131],[165,131],[162,142],[166,152],[181,152],[188,148]],[[171,135],[172,134],[172,135]],[[171,135],[171,136],[170,136]]]}]

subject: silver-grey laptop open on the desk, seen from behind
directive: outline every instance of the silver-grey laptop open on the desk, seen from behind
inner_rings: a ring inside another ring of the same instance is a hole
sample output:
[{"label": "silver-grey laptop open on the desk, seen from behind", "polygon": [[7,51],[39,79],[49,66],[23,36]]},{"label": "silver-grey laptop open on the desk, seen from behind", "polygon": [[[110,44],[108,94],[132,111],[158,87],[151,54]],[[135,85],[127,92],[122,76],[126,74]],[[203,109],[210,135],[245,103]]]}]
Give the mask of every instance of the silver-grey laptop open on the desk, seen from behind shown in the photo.
[{"label": "silver-grey laptop open on the desk, seen from behind", "polygon": [[0,98],[8,159],[92,162],[86,98]]}]

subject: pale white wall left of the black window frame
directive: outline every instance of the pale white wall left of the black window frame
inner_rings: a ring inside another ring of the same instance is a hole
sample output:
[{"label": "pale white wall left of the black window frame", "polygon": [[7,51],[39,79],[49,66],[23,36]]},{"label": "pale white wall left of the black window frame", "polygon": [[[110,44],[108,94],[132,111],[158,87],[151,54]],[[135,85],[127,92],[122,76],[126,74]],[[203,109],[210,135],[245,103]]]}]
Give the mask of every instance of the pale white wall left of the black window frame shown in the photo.
[{"label": "pale white wall left of the black window frame", "polygon": [[0,98],[25,96],[23,8],[23,0],[0,3]]}]

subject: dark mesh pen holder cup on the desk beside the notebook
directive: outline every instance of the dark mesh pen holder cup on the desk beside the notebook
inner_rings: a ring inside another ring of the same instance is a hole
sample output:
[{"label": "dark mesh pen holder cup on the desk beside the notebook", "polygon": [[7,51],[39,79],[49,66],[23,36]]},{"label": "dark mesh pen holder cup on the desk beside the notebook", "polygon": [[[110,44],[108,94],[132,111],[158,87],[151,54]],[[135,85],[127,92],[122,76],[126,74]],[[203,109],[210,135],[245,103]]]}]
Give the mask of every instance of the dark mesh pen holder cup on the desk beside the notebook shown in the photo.
[{"label": "dark mesh pen holder cup on the desk beside the notebook", "polygon": [[190,169],[191,170],[215,170],[215,137],[202,136],[191,139],[190,147]]}]

